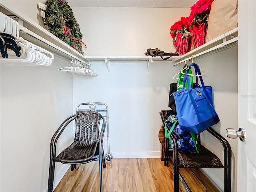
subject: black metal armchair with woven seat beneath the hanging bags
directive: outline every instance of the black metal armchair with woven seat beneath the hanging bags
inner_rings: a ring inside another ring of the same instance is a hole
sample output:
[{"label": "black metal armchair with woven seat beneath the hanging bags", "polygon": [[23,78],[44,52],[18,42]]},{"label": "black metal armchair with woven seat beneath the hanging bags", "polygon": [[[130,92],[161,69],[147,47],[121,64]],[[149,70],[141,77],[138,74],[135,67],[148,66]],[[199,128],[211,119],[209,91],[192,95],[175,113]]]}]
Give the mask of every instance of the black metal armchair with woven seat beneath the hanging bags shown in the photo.
[{"label": "black metal armchair with woven seat beneath the hanging bags", "polygon": [[[171,114],[172,110],[162,110],[160,116],[163,124]],[[167,126],[167,129],[170,128]],[[214,131],[211,127],[207,131],[216,137],[224,148],[224,165],[220,159],[212,153],[210,150],[200,144],[200,153],[193,154],[188,152],[182,152],[178,150],[177,140],[174,134],[170,134],[170,138],[165,138],[165,146],[168,146],[170,139],[172,140],[173,148],[169,149],[165,147],[164,151],[164,165],[168,166],[168,162],[173,165],[174,169],[174,192],[179,192],[179,177],[182,184],[185,186],[188,192],[191,192],[188,184],[184,180],[183,176],[179,172],[179,168],[224,168],[224,192],[231,192],[231,147],[228,141],[220,134]],[[198,134],[198,141],[200,142],[200,135]],[[170,150],[170,151],[169,151]],[[172,158],[170,158],[169,152],[172,152]]]}]

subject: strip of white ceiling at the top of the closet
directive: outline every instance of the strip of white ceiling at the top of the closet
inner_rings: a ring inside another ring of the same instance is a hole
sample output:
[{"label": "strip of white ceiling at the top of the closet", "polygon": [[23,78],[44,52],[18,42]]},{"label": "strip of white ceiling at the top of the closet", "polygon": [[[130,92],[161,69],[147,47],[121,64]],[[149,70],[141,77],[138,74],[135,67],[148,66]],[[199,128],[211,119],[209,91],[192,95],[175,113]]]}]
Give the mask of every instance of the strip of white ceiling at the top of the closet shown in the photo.
[{"label": "strip of white ceiling at the top of the closet", "polygon": [[69,0],[71,7],[190,8],[196,0]]}]

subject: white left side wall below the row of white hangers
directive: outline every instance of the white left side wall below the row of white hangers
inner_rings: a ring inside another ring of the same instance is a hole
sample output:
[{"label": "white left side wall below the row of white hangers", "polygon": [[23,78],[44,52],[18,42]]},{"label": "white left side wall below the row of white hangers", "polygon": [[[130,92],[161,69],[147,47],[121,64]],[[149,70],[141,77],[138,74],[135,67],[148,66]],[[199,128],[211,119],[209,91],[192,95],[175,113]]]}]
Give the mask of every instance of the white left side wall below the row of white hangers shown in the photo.
[{"label": "white left side wall below the row of white hangers", "polygon": [[[72,75],[55,57],[51,66],[2,66],[1,62],[1,188],[2,192],[42,192],[48,185],[50,140],[72,114]],[[68,145],[73,129],[63,133],[58,151]],[[67,167],[56,163],[55,183]]]}]

